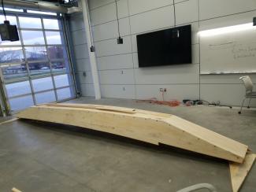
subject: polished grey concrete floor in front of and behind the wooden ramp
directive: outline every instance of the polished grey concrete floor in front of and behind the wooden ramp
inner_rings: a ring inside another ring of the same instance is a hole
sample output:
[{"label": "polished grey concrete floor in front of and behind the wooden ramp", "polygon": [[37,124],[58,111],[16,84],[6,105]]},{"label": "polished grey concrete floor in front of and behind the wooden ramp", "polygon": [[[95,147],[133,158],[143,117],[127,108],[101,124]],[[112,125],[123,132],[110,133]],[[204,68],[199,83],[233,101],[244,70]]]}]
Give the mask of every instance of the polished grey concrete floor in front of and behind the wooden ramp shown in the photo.
[{"label": "polished grey concrete floor in front of and behind the wooden ramp", "polygon": [[[239,115],[238,109],[225,107],[169,107],[124,99],[70,102],[172,113],[243,142],[256,152],[253,109]],[[256,191],[255,181],[256,165],[240,191]],[[13,186],[23,192],[173,192],[196,183],[211,183],[219,192],[232,191],[228,162],[61,124],[16,120],[0,125],[1,192]]]}]

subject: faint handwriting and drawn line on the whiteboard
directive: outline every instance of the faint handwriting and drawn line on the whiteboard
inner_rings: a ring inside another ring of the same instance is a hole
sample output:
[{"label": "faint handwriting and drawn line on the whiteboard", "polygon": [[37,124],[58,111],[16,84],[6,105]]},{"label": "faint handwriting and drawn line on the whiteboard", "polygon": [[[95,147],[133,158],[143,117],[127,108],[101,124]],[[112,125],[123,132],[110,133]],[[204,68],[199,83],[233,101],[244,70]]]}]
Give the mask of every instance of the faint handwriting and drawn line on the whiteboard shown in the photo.
[{"label": "faint handwriting and drawn line on the whiteboard", "polygon": [[234,59],[256,57],[256,42],[224,42],[218,44],[210,44],[209,47],[210,50],[230,50]]}]

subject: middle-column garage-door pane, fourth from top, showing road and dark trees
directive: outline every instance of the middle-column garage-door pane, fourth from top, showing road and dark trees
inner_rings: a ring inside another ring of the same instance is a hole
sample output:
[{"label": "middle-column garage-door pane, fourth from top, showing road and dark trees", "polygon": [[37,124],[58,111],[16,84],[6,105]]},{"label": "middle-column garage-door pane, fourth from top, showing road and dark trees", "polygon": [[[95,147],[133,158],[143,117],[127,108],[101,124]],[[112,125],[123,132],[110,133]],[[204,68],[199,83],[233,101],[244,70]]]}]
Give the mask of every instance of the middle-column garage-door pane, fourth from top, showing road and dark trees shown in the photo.
[{"label": "middle-column garage-door pane, fourth from top, showing road and dark trees", "polygon": [[48,62],[33,62],[28,63],[31,76],[49,76],[50,65]]}]

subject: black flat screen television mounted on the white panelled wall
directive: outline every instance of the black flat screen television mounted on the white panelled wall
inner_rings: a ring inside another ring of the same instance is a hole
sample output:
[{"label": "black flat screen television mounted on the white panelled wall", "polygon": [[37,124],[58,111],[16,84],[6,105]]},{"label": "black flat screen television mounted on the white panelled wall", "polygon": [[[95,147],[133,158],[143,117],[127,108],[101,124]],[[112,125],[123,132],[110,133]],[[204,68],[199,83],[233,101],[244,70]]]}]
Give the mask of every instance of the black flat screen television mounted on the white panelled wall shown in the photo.
[{"label": "black flat screen television mounted on the white panelled wall", "polygon": [[137,35],[139,68],[190,64],[191,25]]}]

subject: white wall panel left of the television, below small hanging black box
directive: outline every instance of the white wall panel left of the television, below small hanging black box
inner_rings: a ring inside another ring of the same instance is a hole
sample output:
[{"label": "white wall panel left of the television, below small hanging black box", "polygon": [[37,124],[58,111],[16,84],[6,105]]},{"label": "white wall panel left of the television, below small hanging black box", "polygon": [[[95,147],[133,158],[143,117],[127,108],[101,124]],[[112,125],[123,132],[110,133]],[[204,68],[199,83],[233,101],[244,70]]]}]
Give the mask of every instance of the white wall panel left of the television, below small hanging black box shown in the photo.
[{"label": "white wall panel left of the television, below small hanging black box", "polygon": [[133,68],[132,54],[120,54],[97,58],[98,70]]}]

